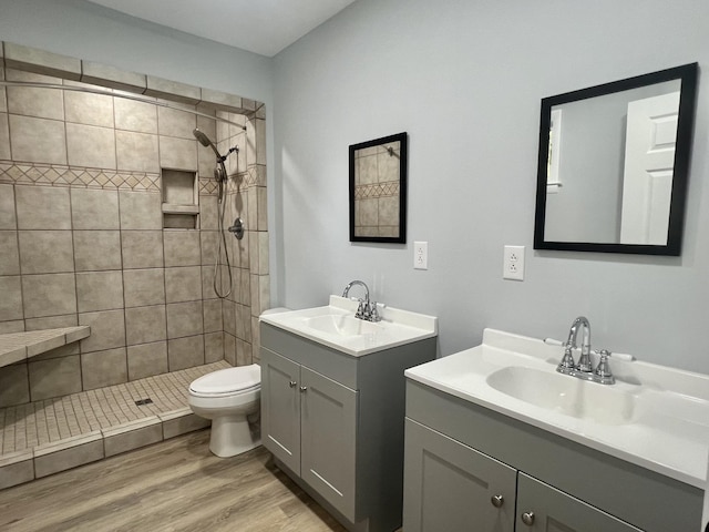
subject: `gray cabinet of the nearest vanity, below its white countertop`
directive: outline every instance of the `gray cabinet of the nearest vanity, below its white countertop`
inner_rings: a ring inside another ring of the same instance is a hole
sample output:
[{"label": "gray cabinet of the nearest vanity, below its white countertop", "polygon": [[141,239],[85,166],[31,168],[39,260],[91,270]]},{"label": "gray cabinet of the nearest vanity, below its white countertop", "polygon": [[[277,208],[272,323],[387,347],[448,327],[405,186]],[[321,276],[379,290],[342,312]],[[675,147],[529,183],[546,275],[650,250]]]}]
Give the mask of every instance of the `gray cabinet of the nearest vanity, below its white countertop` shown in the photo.
[{"label": "gray cabinet of the nearest vanity, below its white countertop", "polygon": [[689,531],[699,491],[408,381],[405,532]]}]

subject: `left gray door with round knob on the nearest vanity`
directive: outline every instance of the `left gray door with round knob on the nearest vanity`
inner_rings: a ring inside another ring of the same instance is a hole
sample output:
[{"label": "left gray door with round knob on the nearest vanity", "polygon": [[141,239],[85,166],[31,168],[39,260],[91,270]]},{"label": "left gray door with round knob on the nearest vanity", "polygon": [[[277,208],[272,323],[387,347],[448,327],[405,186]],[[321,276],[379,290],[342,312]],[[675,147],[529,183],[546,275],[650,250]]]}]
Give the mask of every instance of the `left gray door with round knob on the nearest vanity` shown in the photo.
[{"label": "left gray door with round knob on the nearest vanity", "polygon": [[515,469],[407,418],[403,530],[512,532],[516,475]]}]

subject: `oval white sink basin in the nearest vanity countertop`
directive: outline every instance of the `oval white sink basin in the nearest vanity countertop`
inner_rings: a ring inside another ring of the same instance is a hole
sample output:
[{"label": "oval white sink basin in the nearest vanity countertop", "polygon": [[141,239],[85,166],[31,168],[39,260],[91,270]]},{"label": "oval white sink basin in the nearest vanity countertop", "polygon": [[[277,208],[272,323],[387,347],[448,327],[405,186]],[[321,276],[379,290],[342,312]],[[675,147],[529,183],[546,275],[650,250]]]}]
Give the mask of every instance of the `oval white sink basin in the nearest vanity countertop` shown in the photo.
[{"label": "oval white sink basin in the nearest vanity countertop", "polygon": [[508,366],[491,374],[490,387],[524,402],[602,424],[634,422],[636,397],[613,386],[567,375]]}]

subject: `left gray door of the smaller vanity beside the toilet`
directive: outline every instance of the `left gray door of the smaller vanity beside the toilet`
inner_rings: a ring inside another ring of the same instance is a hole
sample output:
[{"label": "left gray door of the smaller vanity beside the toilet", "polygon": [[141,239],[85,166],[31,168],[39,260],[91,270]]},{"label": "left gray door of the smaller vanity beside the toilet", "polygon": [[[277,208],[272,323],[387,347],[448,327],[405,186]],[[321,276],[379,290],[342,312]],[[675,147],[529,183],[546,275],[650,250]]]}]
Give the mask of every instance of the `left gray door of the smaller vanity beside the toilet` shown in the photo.
[{"label": "left gray door of the smaller vanity beside the toilet", "polygon": [[300,474],[300,365],[261,348],[261,441]]}]

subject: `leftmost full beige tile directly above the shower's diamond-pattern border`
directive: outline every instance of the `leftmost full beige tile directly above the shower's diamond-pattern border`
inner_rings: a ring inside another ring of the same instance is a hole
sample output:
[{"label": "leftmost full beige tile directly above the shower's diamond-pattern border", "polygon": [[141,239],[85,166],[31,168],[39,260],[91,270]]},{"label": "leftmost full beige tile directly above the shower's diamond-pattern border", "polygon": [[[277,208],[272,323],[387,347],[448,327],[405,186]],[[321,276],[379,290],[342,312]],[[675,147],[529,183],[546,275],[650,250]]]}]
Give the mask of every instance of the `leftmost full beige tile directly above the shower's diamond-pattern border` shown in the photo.
[{"label": "leftmost full beige tile directly above the shower's diamond-pattern border", "polygon": [[10,143],[13,161],[66,164],[64,122],[11,114]]}]

